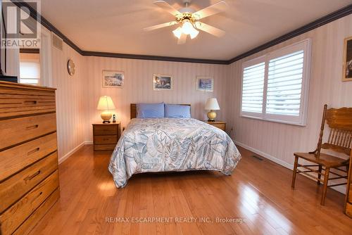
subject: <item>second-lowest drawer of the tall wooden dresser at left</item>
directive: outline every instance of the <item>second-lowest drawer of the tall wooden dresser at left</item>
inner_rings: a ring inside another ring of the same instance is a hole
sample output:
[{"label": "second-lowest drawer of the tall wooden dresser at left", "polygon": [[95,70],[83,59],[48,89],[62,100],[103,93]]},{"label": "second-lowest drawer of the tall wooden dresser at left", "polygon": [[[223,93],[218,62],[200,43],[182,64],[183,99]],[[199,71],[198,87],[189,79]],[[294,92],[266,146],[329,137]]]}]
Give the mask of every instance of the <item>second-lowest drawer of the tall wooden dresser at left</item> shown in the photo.
[{"label": "second-lowest drawer of the tall wooden dresser at left", "polygon": [[55,152],[1,182],[0,213],[57,169],[58,156]]}]

